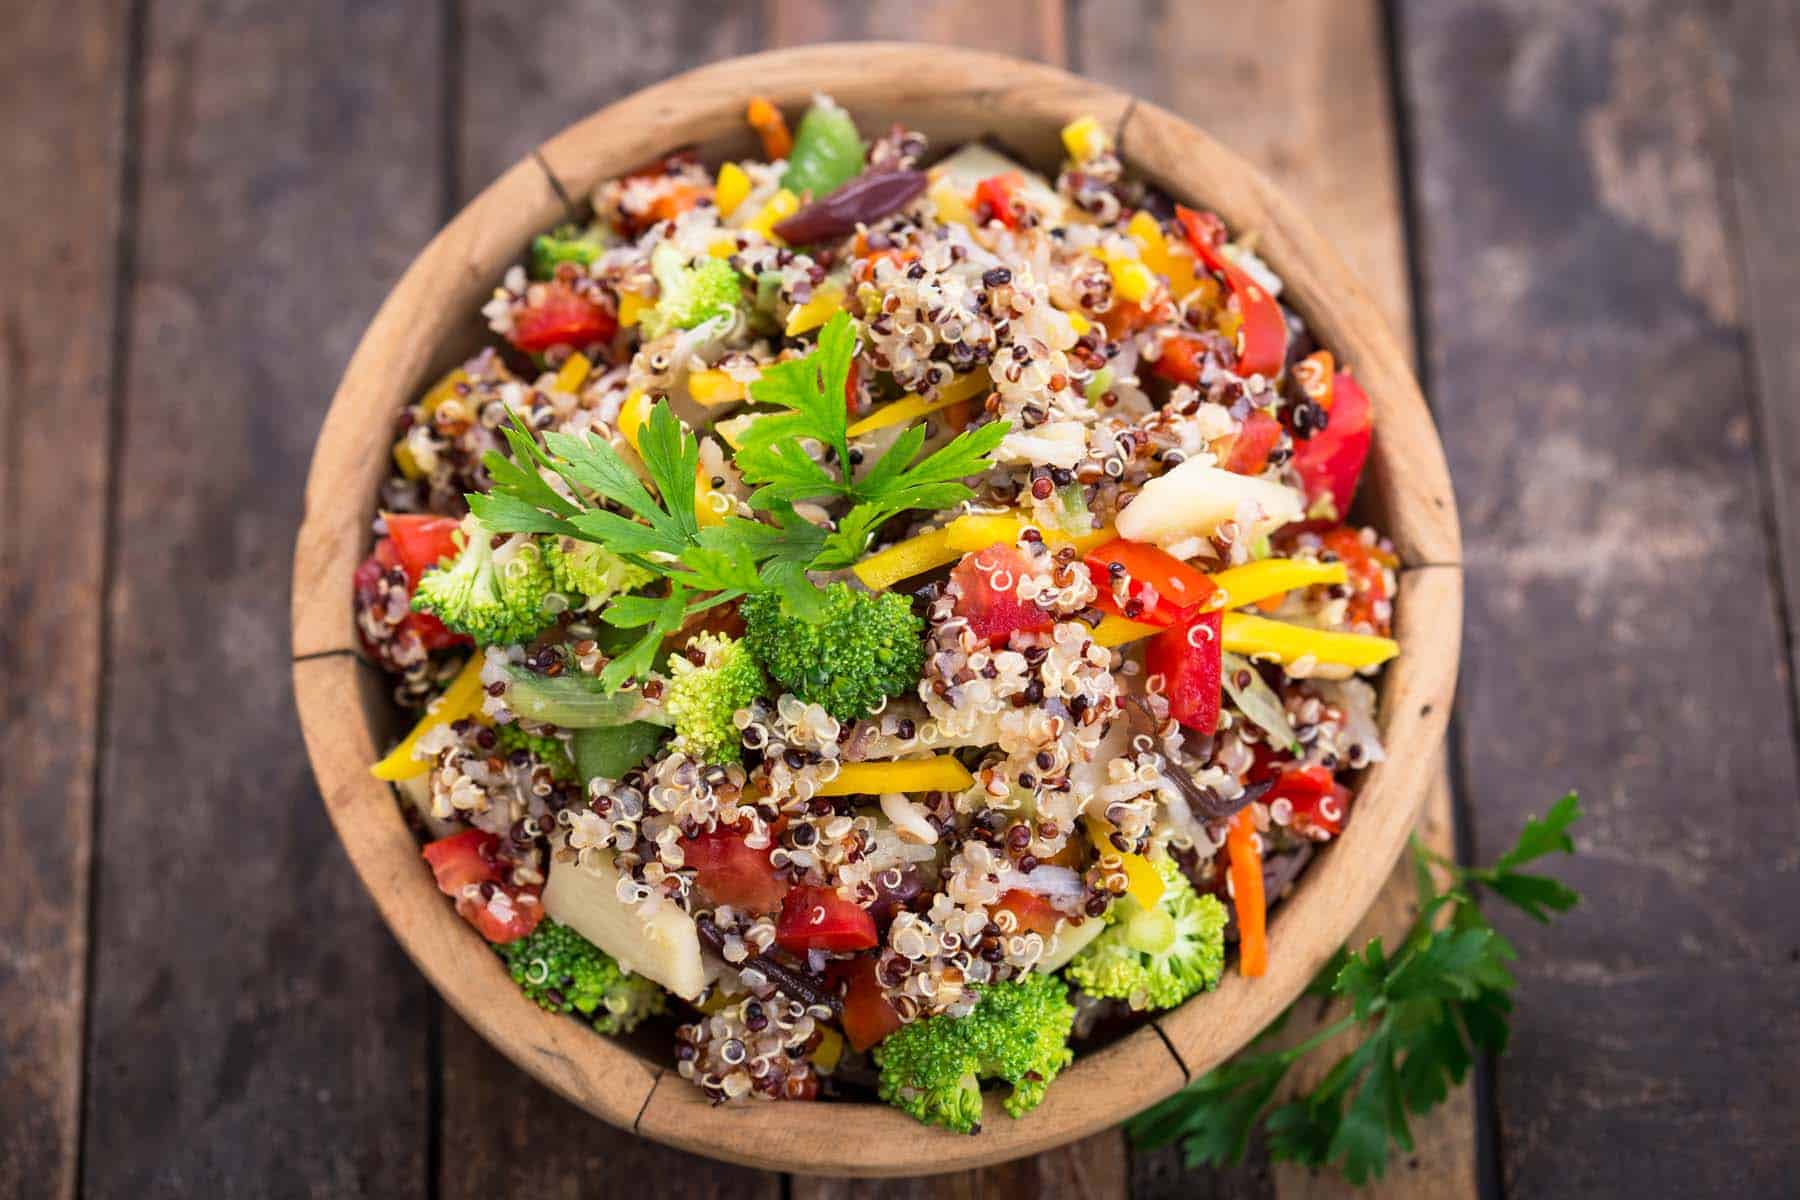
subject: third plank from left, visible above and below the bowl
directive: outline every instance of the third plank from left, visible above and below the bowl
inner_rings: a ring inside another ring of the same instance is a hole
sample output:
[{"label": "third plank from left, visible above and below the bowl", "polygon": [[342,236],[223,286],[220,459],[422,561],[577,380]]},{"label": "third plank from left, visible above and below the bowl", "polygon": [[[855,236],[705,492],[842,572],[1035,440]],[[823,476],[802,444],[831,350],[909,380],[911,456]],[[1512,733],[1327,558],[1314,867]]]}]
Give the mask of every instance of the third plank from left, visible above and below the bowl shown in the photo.
[{"label": "third plank from left, visible above and below the bowl", "polygon": [[[630,38],[594,31],[632,29]],[[547,36],[545,31],[567,36]],[[583,32],[587,31],[587,32]],[[560,128],[704,61],[754,49],[742,7],[466,5],[464,198]],[[576,196],[574,200],[581,200]],[[599,1036],[599,1034],[594,1034]],[[513,1067],[455,1015],[441,1042],[439,1195],[644,1195],[776,1200],[781,1177],[670,1150],[589,1117]]]}]

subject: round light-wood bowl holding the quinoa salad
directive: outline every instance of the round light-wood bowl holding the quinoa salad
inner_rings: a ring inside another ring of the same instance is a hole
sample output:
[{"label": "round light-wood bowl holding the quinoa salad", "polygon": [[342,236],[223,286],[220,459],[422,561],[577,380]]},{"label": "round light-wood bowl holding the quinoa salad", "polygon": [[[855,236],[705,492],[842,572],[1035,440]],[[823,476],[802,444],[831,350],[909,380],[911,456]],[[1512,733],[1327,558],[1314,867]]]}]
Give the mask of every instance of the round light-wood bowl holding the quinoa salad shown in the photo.
[{"label": "round light-wood bowl holding the quinoa salad", "polygon": [[[351,572],[369,552],[394,414],[479,344],[479,306],[572,200],[689,142],[711,162],[754,155],[745,101],[760,94],[792,112],[814,92],[835,95],[864,130],[902,121],[938,148],[994,135],[1044,166],[1060,158],[1058,130],[1094,113],[1130,169],[1217,209],[1233,230],[1255,232],[1258,252],[1287,281],[1285,299],[1373,398],[1361,504],[1406,565],[1395,630],[1402,653],[1381,680],[1388,761],[1366,772],[1355,819],[1274,910],[1267,975],[1228,972],[1217,991],[1154,1027],[1082,1054],[1024,1119],[990,1099],[977,1137],[929,1130],[873,1103],[715,1108],[670,1069],[670,1056],[639,1054],[540,1011],[437,894],[394,793],[367,770],[398,716],[380,673],[360,662]],[[1116,1124],[1228,1058],[1300,993],[1388,878],[1436,766],[1456,676],[1458,561],[1444,452],[1400,347],[1337,252],[1249,164],[1174,113],[1049,67],[945,47],[819,45],[716,63],[563,130],[412,263],[356,347],[319,435],[295,551],[293,676],[319,788],[364,885],[419,970],[515,1063],[594,1115],[684,1150],[783,1171],[914,1175],[999,1162]]]}]

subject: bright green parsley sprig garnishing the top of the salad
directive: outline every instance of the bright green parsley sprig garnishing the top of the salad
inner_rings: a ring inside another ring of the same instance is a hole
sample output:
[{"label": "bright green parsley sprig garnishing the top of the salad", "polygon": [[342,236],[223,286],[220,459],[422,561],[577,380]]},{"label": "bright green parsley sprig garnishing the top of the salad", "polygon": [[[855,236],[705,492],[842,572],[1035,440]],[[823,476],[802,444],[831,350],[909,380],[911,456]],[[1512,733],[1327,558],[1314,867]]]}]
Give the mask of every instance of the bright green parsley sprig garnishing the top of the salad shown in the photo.
[{"label": "bright green parsley sprig garnishing the top of the salad", "polygon": [[[941,509],[974,495],[961,480],[990,466],[1006,423],[959,434],[918,462],[925,428],[913,426],[853,477],[844,381],[855,353],[855,327],[839,313],[810,354],[769,367],[751,385],[751,399],[779,408],[752,419],[736,452],[738,470],[756,488],[751,507],[767,520],[700,524],[700,441],[668,401],[657,401],[637,432],[637,457],[653,489],[605,439],[547,432],[540,443],[517,412],[509,414],[500,432],[511,453],[482,457],[493,489],[470,495],[470,511],[495,533],[594,542],[662,579],[657,594],[621,596],[601,610],[607,624],[639,630],[601,671],[601,684],[616,689],[646,675],[662,640],[688,617],[747,592],[779,590],[796,612],[814,610],[819,590],[808,570],[857,561],[880,524],[898,513]],[[805,441],[824,446],[835,470],[806,453]],[[794,509],[799,500],[846,498],[850,507],[835,529]]]}]

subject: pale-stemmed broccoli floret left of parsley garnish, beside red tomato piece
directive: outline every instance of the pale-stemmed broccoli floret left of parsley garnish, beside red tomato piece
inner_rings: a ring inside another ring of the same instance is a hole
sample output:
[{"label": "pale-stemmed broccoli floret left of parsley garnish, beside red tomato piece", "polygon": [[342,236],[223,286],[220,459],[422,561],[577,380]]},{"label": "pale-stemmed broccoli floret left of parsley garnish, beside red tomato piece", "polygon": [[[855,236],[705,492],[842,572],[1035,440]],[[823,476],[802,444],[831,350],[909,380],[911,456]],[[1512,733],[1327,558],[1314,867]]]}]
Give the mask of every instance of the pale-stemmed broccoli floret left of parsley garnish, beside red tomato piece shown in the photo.
[{"label": "pale-stemmed broccoli floret left of parsley garnish, beside red tomato piece", "polygon": [[414,612],[434,613],[477,646],[522,642],[547,624],[544,597],[551,569],[538,540],[517,533],[499,547],[473,515],[463,518],[463,552],[448,567],[432,567],[412,596]]}]

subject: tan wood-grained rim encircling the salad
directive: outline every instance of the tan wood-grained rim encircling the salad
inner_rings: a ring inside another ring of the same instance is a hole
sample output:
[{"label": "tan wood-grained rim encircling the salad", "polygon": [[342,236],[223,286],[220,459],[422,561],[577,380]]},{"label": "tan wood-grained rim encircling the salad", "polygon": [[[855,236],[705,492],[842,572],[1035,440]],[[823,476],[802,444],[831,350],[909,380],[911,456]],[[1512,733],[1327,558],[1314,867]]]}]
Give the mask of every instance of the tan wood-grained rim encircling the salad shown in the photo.
[{"label": "tan wood-grained rim encircling the salad", "polygon": [[[1123,130],[1127,158],[1139,162],[1175,194],[1213,203],[1240,225],[1265,228],[1264,248],[1271,263],[1287,275],[1319,331],[1359,362],[1377,405],[1381,432],[1375,455],[1386,455],[1388,462],[1386,470],[1373,473],[1370,493],[1395,506],[1395,529],[1404,534],[1408,552],[1418,554],[1433,545],[1454,551],[1454,507],[1429,416],[1404,356],[1381,322],[1372,318],[1336,252],[1262,176],[1154,106],[1132,106],[1118,92],[1062,72],[983,54],[950,49],[922,54],[916,47],[871,43],[848,56],[842,47],[819,47],[738,59],[639,92],[545,142],[538,160],[556,173],[565,191],[580,193],[668,144],[697,142],[711,155],[742,153],[751,140],[742,128],[742,108],[752,88],[783,104],[803,103],[812,90],[824,88],[873,121],[904,119],[938,140],[1004,128],[1022,153],[1046,160],[1055,155],[1057,131],[1075,115],[1094,112],[1116,122],[1132,112],[1134,121]],[[497,191],[477,198],[475,207],[459,216],[409,270],[383,304],[340,387],[317,448],[308,489],[311,511],[297,552],[297,578],[319,581],[320,594],[329,594],[333,579],[340,596],[347,588],[358,543],[333,531],[355,525],[347,516],[356,507],[355,497],[369,495],[385,459],[380,434],[387,428],[387,414],[423,381],[430,347],[448,329],[441,313],[455,302],[455,295],[441,284],[470,290],[477,281],[497,277],[527,236],[545,223],[542,209],[508,201],[506,191],[517,173],[502,178]],[[396,338],[396,331],[405,331],[405,336]],[[1402,462],[1406,471],[1395,471],[1395,464]],[[362,491],[356,480],[365,484]],[[1420,581],[1417,588],[1424,601],[1402,606],[1402,658],[1386,682],[1384,738],[1395,761],[1372,772],[1363,797],[1364,819],[1352,826],[1334,855],[1309,873],[1303,891],[1319,892],[1328,901],[1309,910],[1307,937],[1301,937],[1301,921],[1283,925],[1276,919],[1273,937],[1292,952],[1285,973],[1264,981],[1255,997],[1233,993],[1226,1000],[1220,993],[1174,1015],[1186,1018],[1179,1033],[1190,1069],[1204,1070],[1219,1061],[1271,1011],[1285,1006],[1305,982],[1307,964],[1316,964],[1328,952],[1312,941],[1336,946],[1343,939],[1404,842],[1429,774],[1426,763],[1442,736],[1454,678],[1460,604],[1454,570],[1413,572],[1409,579]],[[301,662],[297,675],[304,680],[313,666],[347,669],[349,660]],[[355,743],[371,747],[380,712],[333,703],[326,693],[310,694],[306,687],[301,689],[301,711],[328,806],[403,945],[452,1004],[515,1061],[583,1106],[617,1121],[616,1076],[625,1052],[592,1036],[571,1042],[567,1052],[554,1058],[540,1052],[538,1040],[556,1034],[535,1024],[542,1015],[517,993],[504,1000],[490,995],[491,984],[504,979],[491,955],[473,932],[452,930],[457,921],[432,892],[412,847],[396,835],[403,829],[392,804],[382,801],[383,790],[371,788],[362,765],[340,752],[340,747]],[[1370,880],[1359,882],[1359,874],[1370,874]],[[477,959],[486,959],[488,968],[475,966]],[[1269,1006],[1273,1009],[1264,1011]],[[571,1027],[571,1033],[581,1031]],[[711,1108],[693,1088],[670,1076],[662,1076],[650,1092],[637,1130],[684,1148],[763,1166],[871,1175],[916,1171],[922,1162],[954,1169],[1035,1153],[1093,1133],[1165,1096],[1181,1078],[1181,1067],[1165,1042],[1147,1029],[1084,1056],[1031,1119],[995,1115],[981,1139],[922,1132],[904,1115],[877,1105],[839,1106],[832,1112],[832,1137],[821,1139],[817,1121],[805,1110],[781,1105]]]}]

